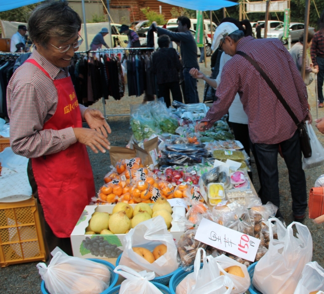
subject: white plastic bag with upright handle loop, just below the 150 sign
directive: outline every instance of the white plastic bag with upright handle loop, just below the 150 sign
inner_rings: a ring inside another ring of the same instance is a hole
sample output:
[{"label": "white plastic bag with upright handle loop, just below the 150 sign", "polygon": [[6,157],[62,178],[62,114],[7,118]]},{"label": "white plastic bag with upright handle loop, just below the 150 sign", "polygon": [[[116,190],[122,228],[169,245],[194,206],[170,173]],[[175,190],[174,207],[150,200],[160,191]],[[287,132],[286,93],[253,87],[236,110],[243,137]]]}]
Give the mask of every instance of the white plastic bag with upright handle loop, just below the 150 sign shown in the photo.
[{"label": "white plastic bag with upright handle loop, just below the 150 sign", "polygon": [[[201,252],[203,267],[200,269]],[[212,256],[206,257],[199,248],[194,261],[194,271],[187,275],[176,287],[176,294],[230,294],[234,284],[229,277],[220,276],[221,268]]]}]

